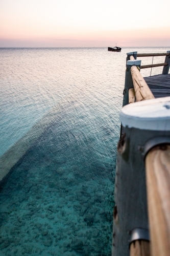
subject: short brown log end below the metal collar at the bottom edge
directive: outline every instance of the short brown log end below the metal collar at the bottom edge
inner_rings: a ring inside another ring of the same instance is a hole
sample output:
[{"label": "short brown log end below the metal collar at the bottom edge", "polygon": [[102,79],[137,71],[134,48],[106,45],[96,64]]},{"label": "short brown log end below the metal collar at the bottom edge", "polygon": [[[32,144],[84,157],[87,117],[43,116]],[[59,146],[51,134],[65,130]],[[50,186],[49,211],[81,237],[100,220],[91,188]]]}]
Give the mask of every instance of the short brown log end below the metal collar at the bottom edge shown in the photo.
[{"label": "short brown log end below the metal collar at the bottom edge", "polygon": [[136,240],[131,243],[130,256],[150,256],[150,242]]}]

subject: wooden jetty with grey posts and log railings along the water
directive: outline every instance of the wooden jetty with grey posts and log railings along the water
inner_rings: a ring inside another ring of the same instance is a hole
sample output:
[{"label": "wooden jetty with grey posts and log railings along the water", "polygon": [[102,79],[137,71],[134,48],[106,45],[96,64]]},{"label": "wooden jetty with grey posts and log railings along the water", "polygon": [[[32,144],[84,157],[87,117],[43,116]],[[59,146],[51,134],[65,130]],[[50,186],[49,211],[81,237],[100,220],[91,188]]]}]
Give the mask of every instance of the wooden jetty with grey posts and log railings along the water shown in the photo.
[{"label": "wooden jetty with grey posts and log railings along the water", "polygon": [[[141,65],[137,57],[165,56]],[[163,66],[142,77],[140,69]],[[112,256],[170,255],[170,51],[127,53],[117,145]]]}]

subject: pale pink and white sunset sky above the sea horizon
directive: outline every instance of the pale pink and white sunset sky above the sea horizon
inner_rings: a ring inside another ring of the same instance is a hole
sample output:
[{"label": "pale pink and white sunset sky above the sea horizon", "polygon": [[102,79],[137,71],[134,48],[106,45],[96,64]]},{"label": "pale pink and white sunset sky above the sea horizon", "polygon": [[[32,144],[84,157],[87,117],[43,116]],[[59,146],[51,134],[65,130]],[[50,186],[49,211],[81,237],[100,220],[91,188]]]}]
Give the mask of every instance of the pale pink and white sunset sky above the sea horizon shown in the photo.
[{"label": "pale pink and white sunset sky above the sea horizon", "polygon": [[0,0],[0,47],[170,46],[170,0]]}]

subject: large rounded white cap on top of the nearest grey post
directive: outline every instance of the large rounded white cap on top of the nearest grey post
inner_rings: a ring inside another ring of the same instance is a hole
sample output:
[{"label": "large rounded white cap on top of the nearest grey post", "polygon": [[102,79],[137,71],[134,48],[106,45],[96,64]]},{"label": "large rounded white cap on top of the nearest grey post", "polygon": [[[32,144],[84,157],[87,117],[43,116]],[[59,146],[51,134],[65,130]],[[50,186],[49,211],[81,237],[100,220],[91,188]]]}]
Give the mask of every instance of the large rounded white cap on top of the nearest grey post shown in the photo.
[{"label": "large rounded white cap on top of the nearest grey post", "polygon": [[143,100],[126,105],[120,111],[124,127],[152,131],[170,131],[170,97]]}]

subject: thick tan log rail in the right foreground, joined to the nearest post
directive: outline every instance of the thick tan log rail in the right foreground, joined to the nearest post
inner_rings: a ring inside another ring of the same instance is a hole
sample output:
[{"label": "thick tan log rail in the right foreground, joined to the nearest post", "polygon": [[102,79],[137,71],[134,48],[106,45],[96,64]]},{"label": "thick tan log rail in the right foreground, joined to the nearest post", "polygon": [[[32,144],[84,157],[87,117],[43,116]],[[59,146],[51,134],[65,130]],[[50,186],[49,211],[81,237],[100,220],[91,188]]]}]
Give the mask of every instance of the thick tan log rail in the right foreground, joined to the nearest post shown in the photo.
[{"label": "thick tan log rail in the right foreground, joined to the nearest post", "polygon": [[170,145],[154,147],[145,159],[152,256],[170,254]]}]

